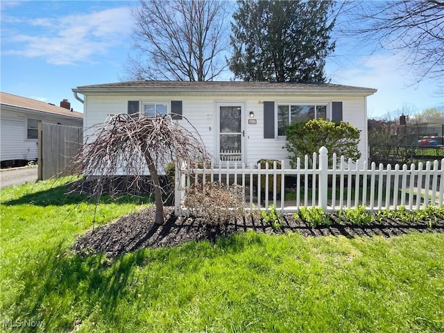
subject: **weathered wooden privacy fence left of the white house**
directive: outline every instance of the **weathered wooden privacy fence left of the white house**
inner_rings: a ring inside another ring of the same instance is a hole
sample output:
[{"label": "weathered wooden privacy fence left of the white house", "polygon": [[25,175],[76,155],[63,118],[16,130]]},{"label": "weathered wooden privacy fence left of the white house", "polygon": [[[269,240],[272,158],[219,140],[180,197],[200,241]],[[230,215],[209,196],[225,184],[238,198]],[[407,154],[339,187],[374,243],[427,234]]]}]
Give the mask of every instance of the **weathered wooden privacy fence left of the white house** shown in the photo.
[{"label": "weathered wooden privacy fence left of the white house", "polygon": [[40,123],[38,135],[38,180],[58,175],[78,153],[83,142],[83,128],[55,123]]}]

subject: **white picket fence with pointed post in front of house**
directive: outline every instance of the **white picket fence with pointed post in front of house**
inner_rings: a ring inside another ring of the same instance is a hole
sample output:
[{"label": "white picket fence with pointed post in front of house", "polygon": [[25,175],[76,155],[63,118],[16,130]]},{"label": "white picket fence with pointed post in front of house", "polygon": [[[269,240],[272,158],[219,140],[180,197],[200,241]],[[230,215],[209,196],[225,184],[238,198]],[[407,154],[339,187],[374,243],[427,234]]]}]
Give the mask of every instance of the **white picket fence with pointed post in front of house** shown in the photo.
[{"label": "white picket fence with pointed post in front of house", "polygon": [[[329,167],[327,153],[327,148],[322,147],[319,154],[313,154],[314,167],[309,167],[308,156],[303,164],[298,158],[296,169],[285,169],[284,161],[280,168],[276,162],[273,165],[267,163],[265,168],[261,164],[246,166],[228,161],[219,162],[219,166],[214,167],[212,162],[209,166],[204,164],[202,169],[193,169],[191,173],[176,165],[176,214],[186,210],[183,205],[185,191],[191,184],[214,181],[244,187],[246,202],[251,209],[268,210],[273,205],[276,210],[288,213],[298,212],[301,206],[322,207],[331,212],[364,205],[373,212],[396,209],[400,205],[408,210],[443,205],[444,159],[441,163],[435,160],[418,166],[404,164],[400,167],[396,164],[394,168],[391,164],[384,168],[382,164],[377,167],[372,163],[369,169],[365,161],[346,162],[343,156],[337,163],[336,154],[333,154],[333,163]],[[296,178],[296,187],[289,190],[285,176]],[[286,195],[292,196],[292,200],[282,200]]]}]

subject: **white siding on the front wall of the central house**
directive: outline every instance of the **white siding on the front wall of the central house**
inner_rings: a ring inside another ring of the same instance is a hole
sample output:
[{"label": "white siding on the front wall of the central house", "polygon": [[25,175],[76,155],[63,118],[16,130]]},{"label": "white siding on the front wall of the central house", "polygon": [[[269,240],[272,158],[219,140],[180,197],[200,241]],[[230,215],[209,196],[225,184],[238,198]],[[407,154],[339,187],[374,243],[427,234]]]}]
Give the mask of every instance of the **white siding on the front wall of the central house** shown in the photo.
[{"label": "white siding on the front wall of the central house", "polygon": [[[184,126],[191,133],[196,130],[200,139],[202,139],[207,151],[216,156],[216,105],[217,103],[243,103],[244,110],[244,144],[245,144],[245,162],[247,164],[256,164],[262,158],[273,160],[287,160],[288,152],[283,147],[286,143],[284,137],[276,137],[275,139],[264,139],[264,101],[274,101],[275,105],[284,103],[299,105],[327,105],[327,117],[330,117],[332,101],[343,102],[343,121],[352,123],[353,126],[361,130],[361,142],[359,149],[364,158],[367,157],[366,142],[366,112],[365,97],[343,97],[343,96],[298,96],[298,97],[273,97],[272,92],[267,96],[246,96],[246,97],[230,97],[230,96],[177,96],[162,94],[160,98],[156,96],[131,95],[111,96],[104,92],[103,95],[92,94],[85,96],[85,128],[86,133],[92,133],[88,130],[90,126],[97,123],[103,123],[108,114],[127,113],[128,101],[165,101],[167,105],[171,101],[182,101],[182,115],[184,119],[177,120],[181,126]],[[142,104],[141,104],[142,105]],[[276,106],[275,106],[276,108]],[[250,118],[250,112],[254,113],[254,117]],[[187,120],[192,124],[188,123]],[[248,123],[248,119],[254,119],[256,123]],[[277,123],[277,119],[275,119]],[[277,132],[276,132],[277,134]],[[287,160],[288,162],[288,160]],[[287,164],[289,165],[289,164]]]}]

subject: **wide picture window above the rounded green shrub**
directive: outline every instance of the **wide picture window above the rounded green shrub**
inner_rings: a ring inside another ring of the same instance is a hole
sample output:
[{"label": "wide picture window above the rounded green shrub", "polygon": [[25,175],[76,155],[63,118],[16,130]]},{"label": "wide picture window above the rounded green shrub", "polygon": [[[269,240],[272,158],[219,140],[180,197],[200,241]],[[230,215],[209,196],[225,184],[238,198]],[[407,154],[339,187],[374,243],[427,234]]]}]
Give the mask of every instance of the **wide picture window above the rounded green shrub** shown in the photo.
[{"label": "wide picture window above the rounded green shrub", "polygon": [[291,123],[321,118],[327,120],[327,104],[279,104],[278,135],[285,135],[285,127]]}]

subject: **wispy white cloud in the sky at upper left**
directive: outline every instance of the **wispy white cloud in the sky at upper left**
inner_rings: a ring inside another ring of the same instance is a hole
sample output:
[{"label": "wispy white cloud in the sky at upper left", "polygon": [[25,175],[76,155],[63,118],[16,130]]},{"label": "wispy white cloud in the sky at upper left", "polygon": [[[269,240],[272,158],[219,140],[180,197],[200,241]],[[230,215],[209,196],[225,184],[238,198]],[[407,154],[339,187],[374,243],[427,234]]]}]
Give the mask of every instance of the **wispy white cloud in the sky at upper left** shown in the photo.
[{"label": "wispy white cloud in the sky at upper left", "polygon": [[98,61],[95,56],[126,42],[132,28],[127,7],[27,22],[35,27],[29,30],[33,33],[22,31],[8,36],[8,48],[3,45],[3,54],[44,58],[53,65]]}]

